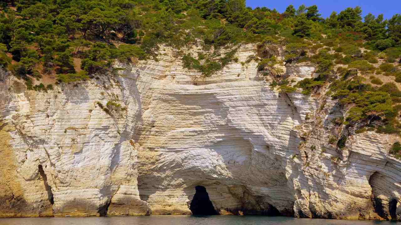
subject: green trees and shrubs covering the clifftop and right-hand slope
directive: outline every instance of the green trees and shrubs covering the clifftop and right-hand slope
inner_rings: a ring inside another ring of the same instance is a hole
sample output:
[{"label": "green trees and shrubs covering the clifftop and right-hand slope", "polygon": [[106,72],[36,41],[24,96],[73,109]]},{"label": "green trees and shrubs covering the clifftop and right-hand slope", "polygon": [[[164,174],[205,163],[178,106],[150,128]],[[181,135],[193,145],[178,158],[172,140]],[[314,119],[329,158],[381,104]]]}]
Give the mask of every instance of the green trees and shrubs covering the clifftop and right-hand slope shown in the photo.
[{"label": "green trees and shrubs covering the clifftop and right-hand slope", "polygon": [[[315,94],[329,85],[331,97],[350,108],[336,125],[399,133],[397,85],[371,77],[372,86],[363,76],[383,74],[401,82],[401,14],[389,20],[361,15],[355,7],[321,18],[316,5],[290,5],[279,13],[251,9],[245,0],[8,0],[0,4],[0,68],[30,90],[47,91],[53,86],[32,80],[56,74],[60,84],[112,76],[115,60],[158,60],[160,47],[169,46],[179,50],[184,68],[209,77],[238,62],[241,44],[257,43],[257,54],[241,64],[257,62],[271,87]],[[203,51],[183,53],[188,46]],[[283,61],[276,57],[280,48]],[[316,65],[318,76],[290,84],[282,66],[297,62]],[[114,103],[97,105],[109,114],[122,110]]]}]

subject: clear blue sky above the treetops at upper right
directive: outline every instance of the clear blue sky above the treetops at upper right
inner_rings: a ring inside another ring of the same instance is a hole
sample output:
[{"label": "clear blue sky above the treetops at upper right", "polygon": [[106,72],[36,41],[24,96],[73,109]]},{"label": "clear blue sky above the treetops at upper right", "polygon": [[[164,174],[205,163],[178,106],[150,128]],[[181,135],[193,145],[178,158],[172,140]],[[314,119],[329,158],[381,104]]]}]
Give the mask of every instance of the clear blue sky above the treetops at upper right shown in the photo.
[{"label": "clear blue sky above the treetops at upper right", "polygon": [[266,6],[267,8],[275,8],[279,12],[284,12],[288,5],[294,5],[298,8],[301,4],[306,6],[317,5],[320,14],[324,18],[330,16],[331,12],[340,12],[347,7],[360,6],[362,8],[363,16],[371,12],[373,15],[377,16],[381,13],[384,14],[385,19],[391,18],[394,14],[401,14],[401,0],[246,0],[247,6],[255,8],[257,6]]}]

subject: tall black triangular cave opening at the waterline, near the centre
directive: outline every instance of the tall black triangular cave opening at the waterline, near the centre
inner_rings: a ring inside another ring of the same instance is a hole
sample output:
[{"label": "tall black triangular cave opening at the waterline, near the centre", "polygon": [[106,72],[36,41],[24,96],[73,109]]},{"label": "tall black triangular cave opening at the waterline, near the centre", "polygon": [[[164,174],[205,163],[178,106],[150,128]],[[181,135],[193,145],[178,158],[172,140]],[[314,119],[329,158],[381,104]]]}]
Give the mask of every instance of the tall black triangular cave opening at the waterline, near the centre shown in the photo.
[{"label": "tall black triangular cave opening at the waterline, near the centre", "polygon": [[189,207],[192,215],[219,215],[209,199],[206,188],[203,186],[196,186],[195,191],[194,198]]}]

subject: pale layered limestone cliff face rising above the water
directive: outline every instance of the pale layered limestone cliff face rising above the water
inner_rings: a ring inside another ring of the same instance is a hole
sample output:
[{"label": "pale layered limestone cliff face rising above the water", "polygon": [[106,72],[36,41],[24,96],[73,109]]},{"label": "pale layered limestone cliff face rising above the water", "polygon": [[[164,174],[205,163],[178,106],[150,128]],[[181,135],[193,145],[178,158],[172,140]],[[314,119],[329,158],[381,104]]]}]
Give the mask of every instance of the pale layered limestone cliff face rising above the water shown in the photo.
[{"label": "pale layered limestone cliff face rising above the water", "polygon": [[164,48],[47,93],[1,70],[0,216],[190,214],[203,186],[219,214],[400,220],[394,137],[349,135],[325,88],[272,90],[256,62],[241,64],[255,51],[202,78]]}]

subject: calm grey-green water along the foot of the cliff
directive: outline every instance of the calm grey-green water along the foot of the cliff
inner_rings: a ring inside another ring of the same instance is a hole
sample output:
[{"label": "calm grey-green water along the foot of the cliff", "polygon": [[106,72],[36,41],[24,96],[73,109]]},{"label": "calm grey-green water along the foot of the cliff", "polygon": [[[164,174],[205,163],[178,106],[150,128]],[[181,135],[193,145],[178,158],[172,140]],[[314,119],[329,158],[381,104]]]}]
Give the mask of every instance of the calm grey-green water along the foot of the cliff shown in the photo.
[{"label": "calm grey-green water along the foot of the cliff", "polygon": [[0,218],[0,225],[396,225],[396,223],[389,221],[298,219],[293,217],[152,215],[138,217]]}]

